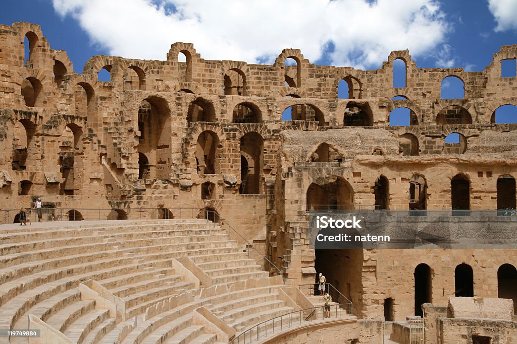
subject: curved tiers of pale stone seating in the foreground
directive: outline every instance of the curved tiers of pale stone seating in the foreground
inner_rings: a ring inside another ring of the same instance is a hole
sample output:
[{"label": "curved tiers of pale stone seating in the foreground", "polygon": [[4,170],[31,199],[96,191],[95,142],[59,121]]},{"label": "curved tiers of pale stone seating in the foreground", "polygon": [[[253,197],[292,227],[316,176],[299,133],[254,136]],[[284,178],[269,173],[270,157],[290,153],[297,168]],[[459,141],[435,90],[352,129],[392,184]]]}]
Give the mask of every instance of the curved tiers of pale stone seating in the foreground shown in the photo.
[{"label": "curved tiers of pale stone seating in the foreground", "polygon": [[[224,292],[200,293],[171,264],[180,257],[191,258]],[[281,280],[243,288],[269,274],[223,228],[205,220],[0,226],[0,267],[0,328],[26,329],[33,314],[74,343],[214,343],[217,336],[194,319],[200,306],[237,333],[293,310],[279,299]],[[87,280],[123,300],[125,319],[81,298],[79,285]],[[171,296],[186,301],[146,314]]]}]

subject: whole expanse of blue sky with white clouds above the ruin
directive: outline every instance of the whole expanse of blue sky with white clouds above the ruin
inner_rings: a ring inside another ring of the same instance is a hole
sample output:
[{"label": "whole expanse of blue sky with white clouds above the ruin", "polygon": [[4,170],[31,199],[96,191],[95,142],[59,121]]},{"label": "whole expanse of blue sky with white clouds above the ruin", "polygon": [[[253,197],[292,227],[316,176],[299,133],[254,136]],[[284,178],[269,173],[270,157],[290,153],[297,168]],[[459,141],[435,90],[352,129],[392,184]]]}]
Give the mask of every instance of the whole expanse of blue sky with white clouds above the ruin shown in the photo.
[{"label": "whole expanse of blue sky with white clouds above the ruin", "polygon": [[408,48],[419,68],[482,71],[517,43],[515,18],[512,0],[3,0],[0,11],[2,24],[40,24],[79,73],[98,54],[163,60],[177,41],[207,59],[272,63],[293,47],[361,69]]}]

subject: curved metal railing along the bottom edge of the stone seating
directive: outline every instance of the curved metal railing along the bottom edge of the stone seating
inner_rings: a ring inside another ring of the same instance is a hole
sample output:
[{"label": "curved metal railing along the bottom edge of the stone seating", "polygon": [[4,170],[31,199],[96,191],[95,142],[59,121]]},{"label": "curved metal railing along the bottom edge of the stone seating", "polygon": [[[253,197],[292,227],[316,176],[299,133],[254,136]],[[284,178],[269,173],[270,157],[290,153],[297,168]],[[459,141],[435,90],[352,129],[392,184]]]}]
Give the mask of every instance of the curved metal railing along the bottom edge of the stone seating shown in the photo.
[{"label": "curved metal railing along the bottom edge of the stone seating", "polygon": [[[341,307],[340,304],[337,305],[328,305],[327,307],[330,308],[330,315],[335,314],[336,318],[341,318]],[[332,308],[335,308],[335,312],[332,310]],[[316,317],[312,317],[312,315],[316,314],[318,309],[322,309],[325,312],[325,306],[317,306],[317,307],[311,307],[311,308],[305,308],[300,310],[295,310],[294,312],[286,313],[279,315],[275,318],[268,319],[266,321],[263,321],[261,323],[258,323],[254,325],[253,327],[250,327],[250,329],[242,332],[238,336],[230,339],[230,344],[251,344],[253,342],[258,342],[262,338],[267,337],[268,334],[273,334],[275,331],[281,332],[284,329],[290,329],[293,325],[301,325],[303,321],[313,321],[317,319]],[[303,313],[309,313],[310,315],[304,320]],[[296,315],[299,315],[299,317],[296,317]],[[349,316],[348,314],[346,314]],[[294,316],[294,319],[293,319]],[[277,322],[275,324],[275,321]],[[269,331],[268,331],[268,324],[269,324]],[[280,328],[278,328],[280,327]]]}]

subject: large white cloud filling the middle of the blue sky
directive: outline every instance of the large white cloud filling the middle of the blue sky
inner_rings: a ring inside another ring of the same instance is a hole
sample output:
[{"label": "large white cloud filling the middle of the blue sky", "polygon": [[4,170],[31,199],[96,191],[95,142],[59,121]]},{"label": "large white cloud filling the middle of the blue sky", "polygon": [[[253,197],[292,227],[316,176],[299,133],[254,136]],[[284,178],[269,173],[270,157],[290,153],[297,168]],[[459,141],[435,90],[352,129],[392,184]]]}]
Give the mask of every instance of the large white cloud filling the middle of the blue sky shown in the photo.
[{"label": "large white cloud filling the middle of the blue sky", "polygon": [[[436,0],[53,0],[111,55],[165,59],[171,43],[194,43],[205,59],[272,63],[283,48],[316,61],[329,41],[334,65],[378,67],[392,50],[413,57],[444,41]],[[171,10],[172,6],[176,11]]]}]

